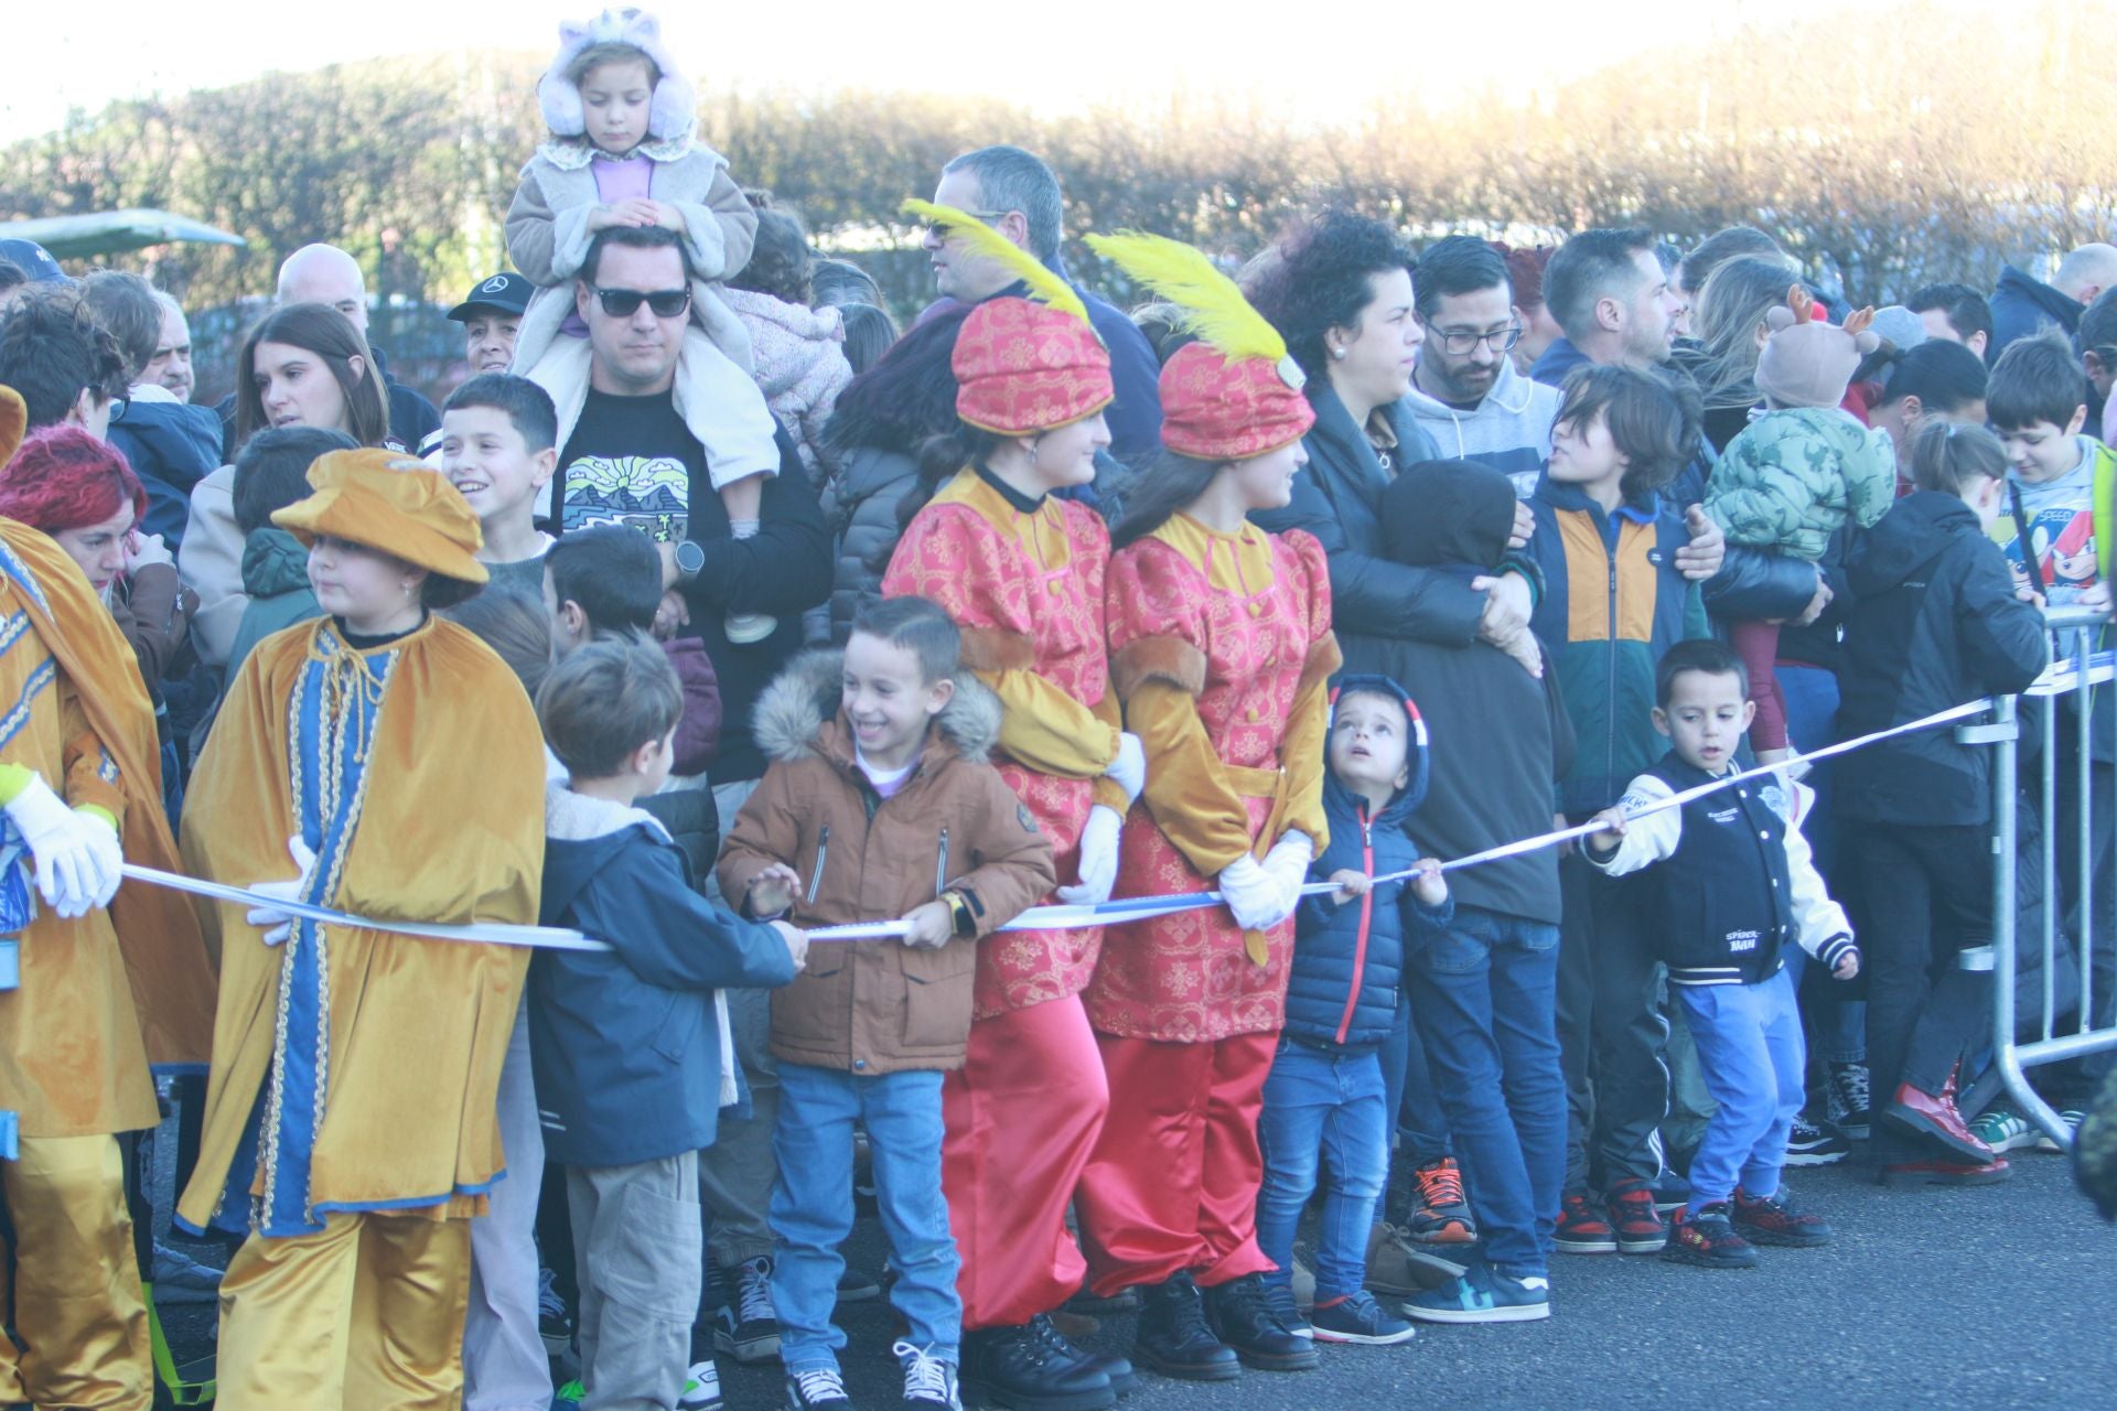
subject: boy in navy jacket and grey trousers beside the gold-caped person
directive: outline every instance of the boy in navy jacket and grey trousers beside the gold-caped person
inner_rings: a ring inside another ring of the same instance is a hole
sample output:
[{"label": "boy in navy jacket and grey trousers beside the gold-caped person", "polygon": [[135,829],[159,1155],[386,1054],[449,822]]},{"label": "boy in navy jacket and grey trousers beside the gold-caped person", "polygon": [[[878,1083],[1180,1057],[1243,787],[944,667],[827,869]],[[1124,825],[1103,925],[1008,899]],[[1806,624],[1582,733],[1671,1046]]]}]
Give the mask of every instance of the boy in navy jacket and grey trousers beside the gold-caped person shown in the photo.
[{"label": "boy in navy jacket and grey trousers beside the gold-caped person", "polygon": [[546,795],[546,927],[610,952],[542,950],[529,1056],[544,1151],[565,1166],[580,1267],[582,1405],[669,1405],[699,1305],[699,1149],[741,1100],[726,986],[783,986],[809,950],[783,922],[699,897],[684,855],[635,804],[667,778],[684,688],[646,639],[608,637],[538,692],[569,778]]}]

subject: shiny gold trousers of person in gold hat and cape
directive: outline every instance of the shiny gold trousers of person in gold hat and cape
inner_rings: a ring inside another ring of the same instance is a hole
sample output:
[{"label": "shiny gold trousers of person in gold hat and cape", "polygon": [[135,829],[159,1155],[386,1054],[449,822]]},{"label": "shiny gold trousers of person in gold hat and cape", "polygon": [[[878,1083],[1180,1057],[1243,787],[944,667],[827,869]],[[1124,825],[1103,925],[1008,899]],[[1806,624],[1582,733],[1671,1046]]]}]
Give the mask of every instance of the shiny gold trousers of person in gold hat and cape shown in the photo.
[{"label": "shiny gold trousers of person in gold hat and cape", "polygon": [[455,1411],[470,1221],[326,1214],[220,1280],[220,1411]]}]

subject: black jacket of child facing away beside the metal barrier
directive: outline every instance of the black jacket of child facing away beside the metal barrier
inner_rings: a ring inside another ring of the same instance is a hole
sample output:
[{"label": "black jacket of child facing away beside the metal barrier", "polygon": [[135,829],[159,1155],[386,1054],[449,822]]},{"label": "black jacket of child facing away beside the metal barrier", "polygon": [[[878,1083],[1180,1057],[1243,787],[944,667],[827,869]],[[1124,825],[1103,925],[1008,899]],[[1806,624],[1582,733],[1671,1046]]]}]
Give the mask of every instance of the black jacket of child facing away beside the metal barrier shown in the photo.
[{"label": "black jacket of child facing away beside the metal barrier", "polygon": [[[1838,730],[1901,726],[2043,671],[2043,613],[2013,597],[2007,556],[1954,495],[1899,499],[1854,548]],[[1975,825],[1992,817],[1992,749],[1952,726],[1840,757],[1838,810],[1863,823]]]}]

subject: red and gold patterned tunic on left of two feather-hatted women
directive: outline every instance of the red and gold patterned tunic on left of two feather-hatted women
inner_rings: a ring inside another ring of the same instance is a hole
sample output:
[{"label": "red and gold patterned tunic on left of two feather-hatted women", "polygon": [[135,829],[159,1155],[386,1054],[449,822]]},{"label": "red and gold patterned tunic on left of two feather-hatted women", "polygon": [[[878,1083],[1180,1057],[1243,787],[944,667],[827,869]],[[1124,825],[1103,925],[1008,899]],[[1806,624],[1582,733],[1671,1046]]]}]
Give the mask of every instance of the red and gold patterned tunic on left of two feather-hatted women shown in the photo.
[{"label": "red and gold patterned tunic on left of two feather-hatted women", "polygon": [[[963,470],[912,518],[883,573],[883,597],[934,599],[963,628],[963,666],[1006,707],[993,764],[1050,838],[1061,884],[1080,880],[1088,808],[1124,810],[1122,789],[1103,778],[1118,757],[1107,567],[1109,531],[1092,510],[1044,497],[1025,512]],[[1099,929],[987,937],[976,1018],[1080,994],[1101,941]]]}]

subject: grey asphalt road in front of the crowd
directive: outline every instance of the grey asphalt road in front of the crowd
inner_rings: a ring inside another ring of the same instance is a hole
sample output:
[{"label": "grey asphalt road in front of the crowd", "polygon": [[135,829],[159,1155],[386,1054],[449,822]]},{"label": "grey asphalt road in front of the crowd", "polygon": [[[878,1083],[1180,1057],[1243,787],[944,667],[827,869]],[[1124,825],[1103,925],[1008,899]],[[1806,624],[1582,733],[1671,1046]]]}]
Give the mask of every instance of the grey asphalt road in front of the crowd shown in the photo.
[{"label": "grey asphalt road in front of the crowd", "polygon": [[[1238,1383],[1141,1375],[1124,1407],[2117,1405],[2117,1231],[2075,1191],[2070,1161],[2013,1157],[2003,1187],[1882,1191],[1854,1153],[1793,1172],[1802,1202],[1838,1229],[1829,1248],[1763,1250],[1755,1271],[1560,1254],[1548,1322],[1423,1326],[1397,1348],[1323,1348],[1315,1373],[1247,1373]],[[872,1218],[851,1259],[881,1269]],[[167,1314],[178,1358],[207,1350],[210,1307]],[[887,1309],[851,1305],[845,1328],[857,1405],[895,1407]],[[1111,1318],[1094,1341],[1122,1350],[1130,1333],[1128,1318]],[[777,1362],[724,1360],[722,1377],[728,1411],[783,1405]]]}]

